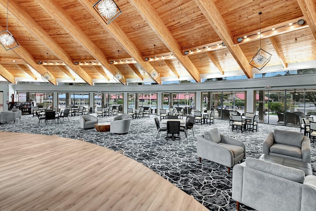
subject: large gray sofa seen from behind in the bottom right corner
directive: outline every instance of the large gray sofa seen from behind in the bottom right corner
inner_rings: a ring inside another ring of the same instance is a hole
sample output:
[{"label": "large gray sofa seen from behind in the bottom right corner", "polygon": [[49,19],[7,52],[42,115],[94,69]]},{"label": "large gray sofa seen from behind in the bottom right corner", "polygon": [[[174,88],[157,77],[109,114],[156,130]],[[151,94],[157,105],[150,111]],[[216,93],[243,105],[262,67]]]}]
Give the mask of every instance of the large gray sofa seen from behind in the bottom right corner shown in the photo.
[{"label": "large gray sofa seen from behind in the bottom right corner", "polygon": [[257,211],[314,211],[316,176],[247,157],[233,169],[232,198]]}]

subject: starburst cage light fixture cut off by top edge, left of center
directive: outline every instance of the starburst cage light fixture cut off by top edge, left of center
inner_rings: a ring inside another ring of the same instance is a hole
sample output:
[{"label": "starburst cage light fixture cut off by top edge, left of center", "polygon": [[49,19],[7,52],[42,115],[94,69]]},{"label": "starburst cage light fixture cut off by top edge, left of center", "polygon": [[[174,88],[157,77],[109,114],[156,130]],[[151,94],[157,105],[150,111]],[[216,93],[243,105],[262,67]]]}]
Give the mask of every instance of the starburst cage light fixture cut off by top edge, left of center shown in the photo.
[{"label": "starburst cage light fixture cut off by top edge, left of center", "polygon": [[98,0],[93,5],[93,8],[107,25],[122,13],[114,0]]}]

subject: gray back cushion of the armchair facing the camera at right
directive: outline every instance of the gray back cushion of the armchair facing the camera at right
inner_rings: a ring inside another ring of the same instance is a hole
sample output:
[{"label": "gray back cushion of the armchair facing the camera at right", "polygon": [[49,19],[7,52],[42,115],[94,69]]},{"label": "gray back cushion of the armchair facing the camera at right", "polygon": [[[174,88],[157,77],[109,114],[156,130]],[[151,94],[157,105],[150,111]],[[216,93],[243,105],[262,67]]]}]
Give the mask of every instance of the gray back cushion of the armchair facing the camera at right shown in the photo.
[{"label": "gray back cushion of the armchair facing the camera at right", "polygon": [[301,147],[303,134],[293,131],[275,130],[273,138],[276,143]]}]

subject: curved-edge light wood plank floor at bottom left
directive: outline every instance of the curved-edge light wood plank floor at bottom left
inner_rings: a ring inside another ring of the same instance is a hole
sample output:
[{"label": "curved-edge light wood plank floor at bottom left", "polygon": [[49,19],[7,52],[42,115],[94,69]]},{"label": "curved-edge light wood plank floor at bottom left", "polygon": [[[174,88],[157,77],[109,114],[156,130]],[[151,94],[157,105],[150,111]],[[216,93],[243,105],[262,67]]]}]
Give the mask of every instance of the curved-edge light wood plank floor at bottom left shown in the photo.
[{"label": "curved-edge light wood plank floor at bottom left", "polygon": [[207,211],[113,150],[54,136],[0,132],[1,211]]}]

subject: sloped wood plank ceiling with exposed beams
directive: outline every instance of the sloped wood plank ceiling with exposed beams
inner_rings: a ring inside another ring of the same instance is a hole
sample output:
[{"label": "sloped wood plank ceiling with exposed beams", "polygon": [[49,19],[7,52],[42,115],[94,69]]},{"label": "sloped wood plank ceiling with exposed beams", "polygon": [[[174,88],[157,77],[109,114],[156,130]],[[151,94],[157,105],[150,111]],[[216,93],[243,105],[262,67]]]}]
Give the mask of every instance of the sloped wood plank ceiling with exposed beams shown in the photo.
[{"label": "sloped wood plank ceiling with exposed beams", "polygon": [[[0,75],[10,83],[41,81],[48,71],[55,85],[113,82],[118,71],[122,84],[200,82],[203,75],[230,72],[251,78],[248,63],[259,48],[260,29],[261,48],[272,54],[266,67],[316,60],[315,0],[115,2],[122,14],[107,25],[92,8],[96,0],[0,0],[0,31],[9,5],[8,30],[20,45],[0,47]],[[149,76],[154,67],[161,76],[156,80]]]}]

